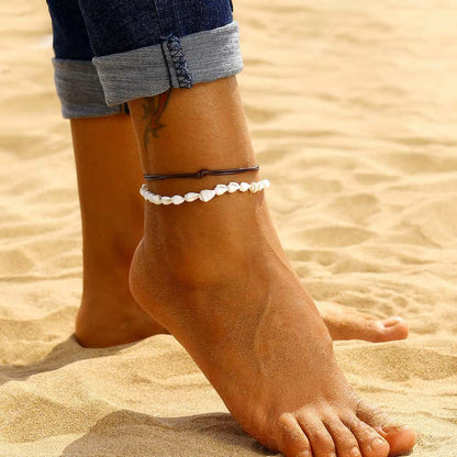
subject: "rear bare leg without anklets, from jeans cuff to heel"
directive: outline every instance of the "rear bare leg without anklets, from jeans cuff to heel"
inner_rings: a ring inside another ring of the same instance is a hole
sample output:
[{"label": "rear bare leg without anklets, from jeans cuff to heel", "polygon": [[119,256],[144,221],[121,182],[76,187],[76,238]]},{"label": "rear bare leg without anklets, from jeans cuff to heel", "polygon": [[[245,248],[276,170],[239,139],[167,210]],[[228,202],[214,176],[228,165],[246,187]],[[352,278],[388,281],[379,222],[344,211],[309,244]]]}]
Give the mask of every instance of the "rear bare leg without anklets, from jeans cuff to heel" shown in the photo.
[{"label": "rear bare leg without anklets, from jeans cuff to heel", "polygon": [[129,289],[131,260],[143,236],[142,170],[132,121],[125,114],[74,119],[71,134],[83,238],[76,336],[96,347],[166,332]]}]

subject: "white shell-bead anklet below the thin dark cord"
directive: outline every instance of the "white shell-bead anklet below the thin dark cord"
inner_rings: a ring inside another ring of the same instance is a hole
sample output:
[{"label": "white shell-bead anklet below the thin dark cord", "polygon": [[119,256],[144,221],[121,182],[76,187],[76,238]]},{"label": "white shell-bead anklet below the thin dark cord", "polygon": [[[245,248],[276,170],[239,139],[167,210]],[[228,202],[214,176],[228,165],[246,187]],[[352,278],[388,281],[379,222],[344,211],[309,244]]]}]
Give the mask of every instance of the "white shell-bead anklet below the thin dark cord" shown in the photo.
[{"label": "white shell-bead anklet below the thin dark cord", "polygon": [[268,179],[263,179],[261,181],[255,181],[250,185],[248,182],[228,182],[228,185],[218,185],[211,190],[204,189],[200,192],[188,192],[185,196],[165,197],[151,192],[146,185],[143,185],[140,189],[140,193],[145,200],[154,204],[181,204],[185,201],[191,202],[196,200],[200,200],[205,203],[214,197],[223,196],[225,192],[234,193],[236,191],[249,191],[250,193],[257,193],[260,190],[268,189],[269,187],[270,181]]}]

